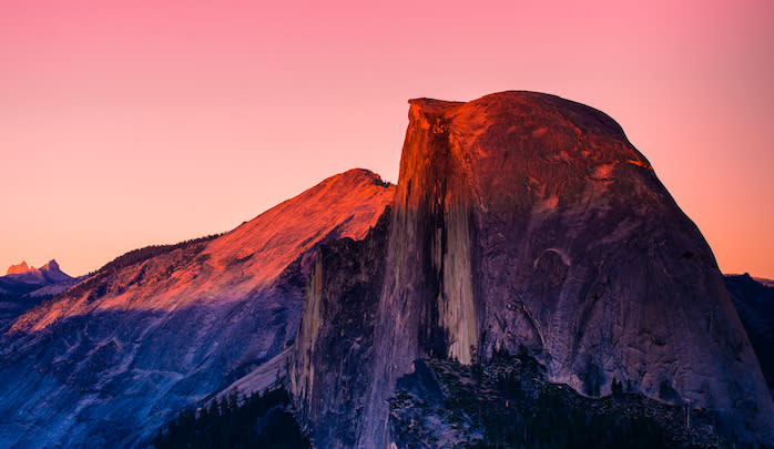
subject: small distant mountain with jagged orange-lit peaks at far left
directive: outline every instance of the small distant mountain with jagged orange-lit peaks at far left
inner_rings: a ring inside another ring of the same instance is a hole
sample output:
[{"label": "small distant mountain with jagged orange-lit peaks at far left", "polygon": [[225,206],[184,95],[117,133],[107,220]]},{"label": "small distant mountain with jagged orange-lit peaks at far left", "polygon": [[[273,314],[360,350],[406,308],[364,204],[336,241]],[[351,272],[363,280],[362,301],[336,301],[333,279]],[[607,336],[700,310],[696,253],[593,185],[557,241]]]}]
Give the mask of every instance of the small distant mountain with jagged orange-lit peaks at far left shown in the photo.
[{"label": "small distant mountain with jagged orange-lit peaks at far left", "polygon": [[7,273],[0,276],[0,333],[19,315],[80,280],[63,273],[54,259],[40,268],[22,262]]}]

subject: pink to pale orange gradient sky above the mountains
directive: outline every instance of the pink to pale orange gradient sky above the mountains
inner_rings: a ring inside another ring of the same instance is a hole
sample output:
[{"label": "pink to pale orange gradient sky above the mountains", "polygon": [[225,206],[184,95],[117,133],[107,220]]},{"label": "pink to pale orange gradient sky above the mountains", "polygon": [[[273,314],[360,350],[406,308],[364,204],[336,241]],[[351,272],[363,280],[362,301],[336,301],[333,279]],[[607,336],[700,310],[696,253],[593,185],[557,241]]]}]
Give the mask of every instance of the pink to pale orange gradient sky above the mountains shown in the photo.
[{"label": "pink to pale orange gradient sky above the mountains", "polygon": [[[733,3],[733,4],[732,4]],[[774,278],[774,2],[0,0],[0,271],[233,228],[350,167],[407,99],[614,118],[726,273]]]}]

